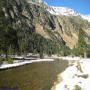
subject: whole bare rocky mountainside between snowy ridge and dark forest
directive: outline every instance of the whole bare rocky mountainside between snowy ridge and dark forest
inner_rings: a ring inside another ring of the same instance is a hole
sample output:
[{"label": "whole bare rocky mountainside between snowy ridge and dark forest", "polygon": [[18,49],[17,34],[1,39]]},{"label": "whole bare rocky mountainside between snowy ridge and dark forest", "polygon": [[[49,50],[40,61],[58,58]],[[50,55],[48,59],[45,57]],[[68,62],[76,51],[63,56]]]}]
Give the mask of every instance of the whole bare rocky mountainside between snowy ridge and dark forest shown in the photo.
[{"label": "whole bare rocky mountainside between snowy ridge and dark forest", "polygon": [[[64,47],[73,48],[77,44],[80,29],[85,31],[85,40],[90,43],[90,23],[87,20],[80,16],[53,15],[47,10],[49,7],[42,0],[40,2],[33,0],[1,0],[0,6],[0,10],[4,12],[6,22],[18,32],[17,35],[20,38],[24,37],[21,40],[22,45],[26,45],[28,42],[26,46],[32,47],[29,42],[32,42],[30,38],[33,39],[34,32],[34,34],[40,35],[40,38],[45,39],[46,43],[49,42],[47,40],[50,40],[56,46],[61,45],[62,47],[63,45]],[[33,41],[35,39],[36,41],[39,40],[36,37]],[[41,46],[44,46],[44,44],[41,44]],[[21,47],[23,47],[22,45]]]}]

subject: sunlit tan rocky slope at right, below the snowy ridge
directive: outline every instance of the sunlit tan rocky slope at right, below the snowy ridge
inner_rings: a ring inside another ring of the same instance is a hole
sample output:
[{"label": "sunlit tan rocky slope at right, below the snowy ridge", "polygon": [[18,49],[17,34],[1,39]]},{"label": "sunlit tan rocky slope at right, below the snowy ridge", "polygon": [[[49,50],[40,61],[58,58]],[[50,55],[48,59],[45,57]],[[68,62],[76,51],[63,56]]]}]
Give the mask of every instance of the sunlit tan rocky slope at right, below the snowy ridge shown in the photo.
[{"label": "sunlit tan rocky slope at right, below the snowy ridge", "polygon": [[57,16],[59,24],[57,30],[66,44],[73,48],[78,41],[78,34],[81,29],[87,34],[83,36],[87,43],[90,43],[90,23],[80,16]]}]

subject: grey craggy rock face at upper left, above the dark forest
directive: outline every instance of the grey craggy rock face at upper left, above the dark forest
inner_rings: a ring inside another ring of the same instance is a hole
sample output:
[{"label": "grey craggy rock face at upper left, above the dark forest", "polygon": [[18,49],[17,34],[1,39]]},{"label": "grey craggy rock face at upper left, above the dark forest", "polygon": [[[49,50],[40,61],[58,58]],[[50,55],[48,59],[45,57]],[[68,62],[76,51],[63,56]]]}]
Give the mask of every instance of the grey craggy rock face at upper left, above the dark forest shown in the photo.
[{"label": "grey craggy rock face at upper left, above the dark forest", "polygon": [[6,6],[2,7],[2,10],[5,13],[5,17],[15,28],[31,28],[35,30],[37,23],[45,28],[55,28],[53,16],[44,10],[40,4],[27,3],[26,0],[6,0],[5,4]]}]

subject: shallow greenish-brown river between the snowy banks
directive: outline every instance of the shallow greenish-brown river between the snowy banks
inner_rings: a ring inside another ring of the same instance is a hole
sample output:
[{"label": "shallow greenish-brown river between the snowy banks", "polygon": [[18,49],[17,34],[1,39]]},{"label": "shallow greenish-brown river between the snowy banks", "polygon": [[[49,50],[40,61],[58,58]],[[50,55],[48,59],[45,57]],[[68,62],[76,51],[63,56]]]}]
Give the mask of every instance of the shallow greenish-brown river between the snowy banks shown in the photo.
[{"label": "shallow greenish-brown river between the snowy banks", "polygon": [[0,71],[0,90],[3,87],[17,90],[50,90],[56,76],[68,66],[67,61],[32,63]]}]

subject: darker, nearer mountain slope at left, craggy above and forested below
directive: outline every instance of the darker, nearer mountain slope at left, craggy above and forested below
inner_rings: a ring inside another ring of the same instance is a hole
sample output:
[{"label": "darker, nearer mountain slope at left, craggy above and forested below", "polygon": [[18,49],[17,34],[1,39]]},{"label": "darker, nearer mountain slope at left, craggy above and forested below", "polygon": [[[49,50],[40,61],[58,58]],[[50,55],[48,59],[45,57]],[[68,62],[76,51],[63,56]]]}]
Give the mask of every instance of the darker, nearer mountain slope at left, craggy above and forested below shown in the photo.
[{"label": "darker, nearer mountain slope at left, craggy above and forested below", "polygon": [[[58,52],[61,45],[67,48],[62,37],[60,35],[58,37],[57,33],[54,34],[56,29],[54,16],[44,9],[42,3],[28,3],[26,0],[3,0],[0,4],[2,5],[0,12],[5,15],[3,18],[1,17],[1,21],[6,21],[1,25],[6,25],[6,29],[10,25],[13,31],[16,32],[19,53],[40,53],[42,56],[43,53],[52,54]],[[4,27],[2,28],[10,37],[11,34],[8,33],[10,30],[6,31]],[[3,32],[0,34],[7,39]],[[3,40],[1,38],[1,41]],[[3,46],[2,42],[0,42],[2,50],[3,48],[7,48],[7,51],[14,49],[10,38],[8,40],[8,45],[4,42],[5,45]]]}]

